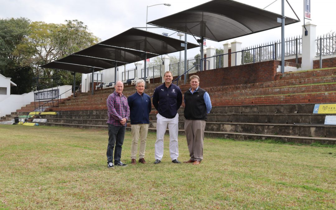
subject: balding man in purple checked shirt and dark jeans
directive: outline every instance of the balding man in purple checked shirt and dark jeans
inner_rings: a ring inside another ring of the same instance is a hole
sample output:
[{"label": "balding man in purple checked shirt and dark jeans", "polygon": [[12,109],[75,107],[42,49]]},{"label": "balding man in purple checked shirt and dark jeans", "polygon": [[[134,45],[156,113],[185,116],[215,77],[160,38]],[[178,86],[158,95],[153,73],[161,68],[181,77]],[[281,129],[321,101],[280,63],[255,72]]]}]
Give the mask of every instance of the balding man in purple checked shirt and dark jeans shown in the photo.
[{"label": "balding man in purple checked shirt and dark jeans", "polygon": [[117,81],[114,88],[114,92],[107,98],[109,143],[107,145],[106,156],[109,168],[114,167],[113,158],[116,166],[127,166],[120,161],[120,158],[124,143],[126,122],[129,119],[129,106],[127,98],[123,95],[124,84],[121,81]]}]

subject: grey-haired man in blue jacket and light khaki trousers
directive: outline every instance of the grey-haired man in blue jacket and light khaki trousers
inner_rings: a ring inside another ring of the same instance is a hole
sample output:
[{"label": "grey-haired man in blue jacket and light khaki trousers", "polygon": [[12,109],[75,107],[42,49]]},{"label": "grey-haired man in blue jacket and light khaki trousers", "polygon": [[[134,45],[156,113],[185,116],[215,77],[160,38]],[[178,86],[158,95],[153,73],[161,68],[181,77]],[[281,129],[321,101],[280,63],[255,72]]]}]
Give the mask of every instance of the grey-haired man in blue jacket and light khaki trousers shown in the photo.
[{"label": "grey-haired man in blue jacket and light khaki trousers", "polygon": [[149,125],[149,113],[152,110],[151,97],[144,93],[145,81],[138,79],[135,82],[136,93],[129,96],[128,106],[130,109],[132,144],[131,144],[131,164],[136,164],[136,153],[138,150],[138,140],[140,138],[139,163],[144,164],[146,161],[145,149],[146,138]]}]

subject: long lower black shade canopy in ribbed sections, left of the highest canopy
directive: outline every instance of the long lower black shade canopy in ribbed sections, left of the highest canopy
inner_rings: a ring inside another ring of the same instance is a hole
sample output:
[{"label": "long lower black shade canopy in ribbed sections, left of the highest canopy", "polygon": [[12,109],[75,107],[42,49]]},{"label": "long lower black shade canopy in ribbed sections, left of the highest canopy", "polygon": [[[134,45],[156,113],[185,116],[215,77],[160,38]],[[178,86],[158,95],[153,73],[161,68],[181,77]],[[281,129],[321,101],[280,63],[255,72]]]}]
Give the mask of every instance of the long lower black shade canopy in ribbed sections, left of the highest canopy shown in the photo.
[{"label": "long lower black shade canopy in ribbed sections, left of the highest canopy", "polygon": [[[92,73],[122,66],[145,58],[184,50],[184,41],[131,28],[117,36],[102,41],[67,57],[42,65],[42,68]],[[187,48],[199,47],[187,43]]]}]

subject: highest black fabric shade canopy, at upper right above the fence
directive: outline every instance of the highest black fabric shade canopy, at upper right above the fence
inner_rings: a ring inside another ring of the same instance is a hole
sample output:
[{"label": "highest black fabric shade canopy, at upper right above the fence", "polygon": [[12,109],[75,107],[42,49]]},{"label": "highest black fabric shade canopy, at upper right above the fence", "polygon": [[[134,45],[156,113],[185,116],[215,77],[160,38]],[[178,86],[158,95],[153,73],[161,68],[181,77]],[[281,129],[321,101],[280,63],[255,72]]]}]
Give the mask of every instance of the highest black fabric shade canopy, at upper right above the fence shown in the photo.
[{"label": "highest black fabric shade canopy, at upper right above the fence", "polygon": [[[148,24],[224,41],[277,27],[282,15],[232,0],[213,0]],[[300,20],[286,17],[285,25]]]}]

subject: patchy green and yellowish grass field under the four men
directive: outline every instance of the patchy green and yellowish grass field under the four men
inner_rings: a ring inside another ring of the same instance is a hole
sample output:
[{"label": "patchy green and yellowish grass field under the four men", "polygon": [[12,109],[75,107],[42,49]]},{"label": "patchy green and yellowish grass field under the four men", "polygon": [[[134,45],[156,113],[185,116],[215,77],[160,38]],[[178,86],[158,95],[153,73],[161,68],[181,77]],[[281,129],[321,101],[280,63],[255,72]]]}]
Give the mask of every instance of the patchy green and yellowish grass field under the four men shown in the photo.
[{"label": "patchy green and yellowish grass field under the four men", "polygon": [[336,209],[335,146],[206,138],[195,166],[171,163],[166,136],[154,165],[155,138],[146,164],[109,169],[107,131],[0,125],[0,209]]}]

